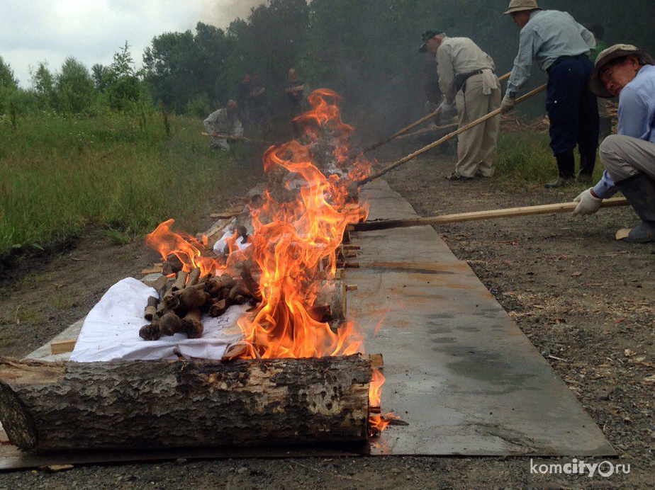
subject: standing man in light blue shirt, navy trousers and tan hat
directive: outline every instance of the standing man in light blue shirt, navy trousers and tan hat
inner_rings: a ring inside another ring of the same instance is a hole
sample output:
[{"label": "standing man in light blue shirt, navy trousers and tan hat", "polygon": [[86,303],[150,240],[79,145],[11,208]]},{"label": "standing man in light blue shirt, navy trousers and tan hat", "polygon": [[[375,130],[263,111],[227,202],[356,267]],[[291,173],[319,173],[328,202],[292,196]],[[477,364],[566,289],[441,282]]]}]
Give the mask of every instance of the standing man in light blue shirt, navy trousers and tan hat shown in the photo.
[{"label": "standing man in light blue shirt, navy trousers and tan hat", "polygon": [[598,147],[598,103],[587,86],[595,47],[593,34],[569,13],[542,10],[535,0],[512,0],[506,14],[521,28],[519,51],[500,109],[515,106],[517,93],[530,78],[532,60],[548,73],[546,109],[550,120],[551,149],[559,178],[547,188],[566,186],[574,178],[575,156],[580,152],[578,178],[591,181]]}]

